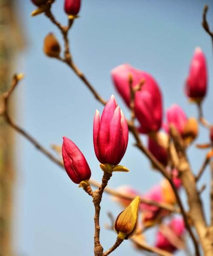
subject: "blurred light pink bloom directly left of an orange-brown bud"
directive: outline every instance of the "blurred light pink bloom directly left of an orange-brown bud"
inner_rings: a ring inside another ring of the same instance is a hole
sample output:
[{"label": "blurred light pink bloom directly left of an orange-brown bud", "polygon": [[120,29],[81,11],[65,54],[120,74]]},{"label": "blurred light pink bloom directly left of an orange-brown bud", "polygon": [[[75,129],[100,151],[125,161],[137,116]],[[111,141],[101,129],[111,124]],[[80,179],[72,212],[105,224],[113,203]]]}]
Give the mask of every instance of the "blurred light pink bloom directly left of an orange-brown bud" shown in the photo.
[{"label": "blurred light pink bloom directly left of an orange-brown bud", "polygon": [[173,104],[166,111],[167,122],[164,123],[164,129],[169,132],[169,125],[173,124],[180,134],[184,131],[184,126],[187,123],[187,116],[184,111],[176,104]]}]

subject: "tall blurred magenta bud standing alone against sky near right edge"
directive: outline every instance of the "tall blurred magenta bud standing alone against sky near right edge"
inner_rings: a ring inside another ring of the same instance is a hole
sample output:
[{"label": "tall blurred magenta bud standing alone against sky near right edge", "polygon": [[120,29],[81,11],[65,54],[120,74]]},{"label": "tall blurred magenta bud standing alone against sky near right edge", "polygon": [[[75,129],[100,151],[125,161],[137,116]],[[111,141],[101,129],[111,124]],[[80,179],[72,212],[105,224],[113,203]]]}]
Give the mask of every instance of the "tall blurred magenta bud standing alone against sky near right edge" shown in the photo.
[{"label": "tall blurred magenta bud standing alone against sky near right edge", "polygon": [[201,102],[207,91],[207,65],[201,48],[196,48],[189,75],[185,84],[185,93],[196,102]]}]

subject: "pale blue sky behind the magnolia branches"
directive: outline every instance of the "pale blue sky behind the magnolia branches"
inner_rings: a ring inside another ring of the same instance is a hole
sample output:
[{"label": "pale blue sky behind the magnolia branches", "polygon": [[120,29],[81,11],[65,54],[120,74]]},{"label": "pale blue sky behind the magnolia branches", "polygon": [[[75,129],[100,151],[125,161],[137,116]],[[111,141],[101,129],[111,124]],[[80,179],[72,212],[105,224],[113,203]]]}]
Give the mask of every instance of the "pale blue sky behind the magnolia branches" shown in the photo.
[{"label": "pale blue sky behind the magnolia branches", "polygon": [[[154,76],[161,87],[165,109],[176,102],[188,116],[197,116],[196,106],[189,104],[184,96],[183,85],[194,49],[199,46],[207,57],[209,71],[204,116],[213,122],[213,54],[210,37],[201,27],[204,4],[209,6],[207,17],[211,25],[212,0],[82,0],[81,17],[75,20],[69,34],[74,62],[104,99],[115,94],[127,117],[130,113],[110,77],[110,70],[123,63]],[[43,54],[43,38],[49,32],[54,32],[63,45],[58,29],[44,15],[30,16],[35,9],[31,1],[16,0],[13,5],[11,16],[6,16],[10,17],[9,22],[14,20],[6,34],[15,31],[14,36],[7,37],[6,44],[9,50],[13,49],[9,58],[10,74],[25,74],[15,93],[14,119],[46,148],[50,149],[53,143],[60,145],[63,136],[72,139],[85,155],[92,177],[100,181],[103,172],[93,150],[92,123],[95,109],[102,111],[103,107],[65,64]],[[52,7],[55,17],[66,24],[63,1],[56,0]],[[13,145],[7,148],[9,163],[14,154],[14,174],[9,176],[10,181],[14,180],[11,201],[14,255],[92,255],[94,212],[91,198],[28,141],[19,134],[14,135],[14,153]],[[207,140],[207,132],[200,128],[196,143]],[[129,184],[143,193],[158,183],[161,175],[151,169],[149,161],[133,143],[130,135],[127,152],[121,161],[130,172],[115,173],[109,186]],[[188,154],[193,171],[197,173],[205,151],[192,145]],[[204,183],[209,185],[209,181],[207,169],[199,187]],[[185,202],[183,191],[181,196]],[[209,189],[202,193],[202,198],[209,220]],[[111,247],[116,238],[115,233],[104,227],[110,223],[108,211],[116,216],[121,208],[109,195],[104,195],[101,242],[105,249]],[[154,234],[155,230],[147,232],[149,244],[153,244]],[[141,252],[136,251],[130,241],[125,241],[113,255],[137,256]]]}]

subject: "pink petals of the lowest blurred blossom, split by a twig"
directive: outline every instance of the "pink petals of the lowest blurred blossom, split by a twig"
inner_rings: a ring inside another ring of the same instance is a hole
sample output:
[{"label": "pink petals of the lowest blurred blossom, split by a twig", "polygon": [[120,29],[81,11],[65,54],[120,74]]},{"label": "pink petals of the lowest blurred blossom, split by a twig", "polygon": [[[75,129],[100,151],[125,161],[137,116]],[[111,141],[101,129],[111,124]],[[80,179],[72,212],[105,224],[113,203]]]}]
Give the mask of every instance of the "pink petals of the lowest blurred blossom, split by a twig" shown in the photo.
[{"label": "pink petals of the lowest blurred blossom, split by a twig", "polygon": [[[185,232],[185,226],[184,221],[181,218],[173,218],[172,221],[170,221],[169,224],[167,224],[167,227],[170,229],[171,233],[168,234],[170,239],[173,239],[174,241],[175,237],[178,239],[181,239],[181,237],[184,235]],[[158,247],[160,249],[166,250],[170,253],[173,253],[178,248],[175,246],[175,244],[172,244],[171,241],[159,230],[156,235],[156,241],[155,241],[155,247]]]}]

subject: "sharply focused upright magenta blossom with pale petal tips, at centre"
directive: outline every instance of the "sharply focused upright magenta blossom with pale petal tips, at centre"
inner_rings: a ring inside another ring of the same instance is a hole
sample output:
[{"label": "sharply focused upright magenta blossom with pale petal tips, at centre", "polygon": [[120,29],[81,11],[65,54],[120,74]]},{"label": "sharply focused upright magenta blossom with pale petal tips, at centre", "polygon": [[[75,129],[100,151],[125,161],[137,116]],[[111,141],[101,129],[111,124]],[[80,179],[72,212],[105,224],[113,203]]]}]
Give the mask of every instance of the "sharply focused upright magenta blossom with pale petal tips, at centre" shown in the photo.
[{"label": "sharply focused upright magenta blossom with pale petal tips, at centre", "polygon": [[127,149],[128,126],[123,112],[112,95],[101,115],[95,111],[93,143],[100,163],[117,165]]}]

